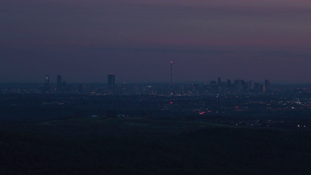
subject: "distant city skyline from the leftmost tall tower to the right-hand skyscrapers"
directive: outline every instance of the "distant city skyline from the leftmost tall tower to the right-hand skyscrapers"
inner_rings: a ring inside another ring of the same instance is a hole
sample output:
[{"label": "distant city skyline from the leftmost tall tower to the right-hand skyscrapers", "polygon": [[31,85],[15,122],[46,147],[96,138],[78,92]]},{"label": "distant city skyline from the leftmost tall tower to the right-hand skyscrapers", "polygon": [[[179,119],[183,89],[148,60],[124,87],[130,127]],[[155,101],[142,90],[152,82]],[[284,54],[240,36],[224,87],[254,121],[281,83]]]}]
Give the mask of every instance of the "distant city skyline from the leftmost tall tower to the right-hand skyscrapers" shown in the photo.
[{"label": "distant city skyline from the leftmost tall tower to the right-hand skyscrapers", "polygon": [[[125,83],[117,85],[115,83],[115,75],[110,73],[107,75],[106,87],[95,87],[95,84],[87,86],[86,84],[80,84],[78,87],[72,87],[67,85],[66,81],[62,81],[62,76],[57,76],[56,86],[50,86],[50,77],[45,75],[45,86],[40,88],[41,93],[79,93],[79,94],[96,94],[96,95],[132,95],[132,94],[154,94],[154,95],[200,95],[200,94],[214,94],[214,93],[241,93],[241,92],[254,92],[265,93],[271,90],[270,81],[265,80],[263,84],[259,84],[254,80],[231,80],[223,81],[222,78],[218,78],[217,81],[210,81],[207,85],[202,83],[191,84],[189,86],[168,87],[166,85],[162,87],[145,86],[139,87],[135,85],[126,85]],[[172,82],[170,84],[172,86]]]}]

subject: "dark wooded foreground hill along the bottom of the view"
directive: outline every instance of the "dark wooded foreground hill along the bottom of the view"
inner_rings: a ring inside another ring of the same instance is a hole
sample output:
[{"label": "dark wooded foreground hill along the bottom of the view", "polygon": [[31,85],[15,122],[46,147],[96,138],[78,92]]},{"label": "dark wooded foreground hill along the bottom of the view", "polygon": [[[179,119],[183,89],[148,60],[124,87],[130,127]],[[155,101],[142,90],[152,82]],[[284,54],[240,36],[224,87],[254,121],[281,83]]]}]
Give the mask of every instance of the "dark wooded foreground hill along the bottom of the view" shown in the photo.
[{"label": "dark wooded foreground hill along the bottom of the view", "polygon": [[310,175],[311,133],[80,118],[0,126],[1,175]]}]

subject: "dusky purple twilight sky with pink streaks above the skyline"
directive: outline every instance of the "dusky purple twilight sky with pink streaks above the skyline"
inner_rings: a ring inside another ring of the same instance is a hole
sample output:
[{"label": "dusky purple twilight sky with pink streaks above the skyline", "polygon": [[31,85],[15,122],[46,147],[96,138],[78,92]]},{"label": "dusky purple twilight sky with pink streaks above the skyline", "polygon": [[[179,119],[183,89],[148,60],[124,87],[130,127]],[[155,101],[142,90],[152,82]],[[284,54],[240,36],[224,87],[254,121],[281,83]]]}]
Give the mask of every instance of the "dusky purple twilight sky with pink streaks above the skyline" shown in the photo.
[{"label": "dusky purple twilight sky with pink streaks above the skyline", "polygon": [[311,0],[0,0],[0,83],[311,84]]}]

